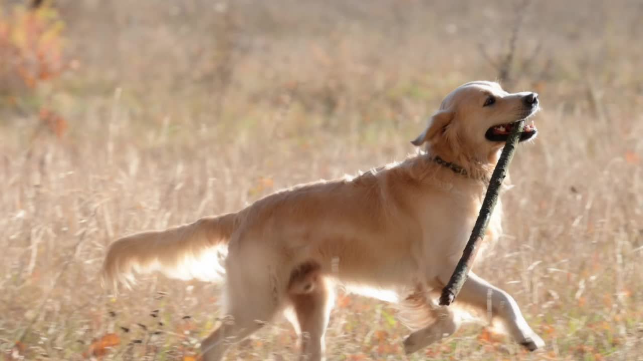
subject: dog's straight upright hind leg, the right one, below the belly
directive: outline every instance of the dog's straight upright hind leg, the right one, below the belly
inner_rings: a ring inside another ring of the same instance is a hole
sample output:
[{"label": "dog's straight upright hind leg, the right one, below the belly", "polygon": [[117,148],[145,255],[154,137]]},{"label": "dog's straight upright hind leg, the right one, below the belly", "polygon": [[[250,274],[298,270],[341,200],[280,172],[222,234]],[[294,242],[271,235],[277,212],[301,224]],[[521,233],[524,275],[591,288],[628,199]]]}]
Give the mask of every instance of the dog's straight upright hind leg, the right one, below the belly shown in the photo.
[{"label": "dog's straight upright hind leg, the right one, below the belly", "polygon": [[324,335],[334,302],[332,287],[330,281],[318,277],[311,292],[289,295],[293,309],[287,316],[300,337],[300,361],[325,360]]}]

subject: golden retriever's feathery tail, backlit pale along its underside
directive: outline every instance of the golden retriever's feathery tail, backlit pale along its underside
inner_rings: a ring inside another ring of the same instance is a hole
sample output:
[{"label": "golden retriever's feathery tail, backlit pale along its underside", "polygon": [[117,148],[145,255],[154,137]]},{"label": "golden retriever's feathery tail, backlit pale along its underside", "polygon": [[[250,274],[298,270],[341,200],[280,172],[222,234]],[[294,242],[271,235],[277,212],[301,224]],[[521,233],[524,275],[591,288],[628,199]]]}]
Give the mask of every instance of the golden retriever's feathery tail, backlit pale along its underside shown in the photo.
[{"label": "golden retriever's feathery tail, backlit pale along its underside", "polygon": [[237,213],[205,217],[165,231],[147,231],[112,243],[102,267],[103,285],[131,286],[134,272],[159,271],[170,278],[217,281],[237,228]]}]

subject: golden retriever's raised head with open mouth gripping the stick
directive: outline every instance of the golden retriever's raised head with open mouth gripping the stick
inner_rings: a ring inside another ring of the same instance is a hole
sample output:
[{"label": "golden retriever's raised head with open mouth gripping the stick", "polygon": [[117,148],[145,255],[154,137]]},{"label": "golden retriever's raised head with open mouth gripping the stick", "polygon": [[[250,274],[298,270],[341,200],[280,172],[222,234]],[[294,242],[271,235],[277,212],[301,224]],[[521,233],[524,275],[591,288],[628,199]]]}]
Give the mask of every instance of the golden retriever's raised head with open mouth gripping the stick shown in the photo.
[{"label": "golden retriever's raised head with open mouth gripping the stick", "polygon": [[[493,162],[507,141],[512,124],[536,114],[535,92],[509,93],[495,82],[469,82],[452,91],[424,132],[411,143],[427,144],[439,155],[469,161]],[[536,136],[533,122],[525,125],[520,141]]]}]

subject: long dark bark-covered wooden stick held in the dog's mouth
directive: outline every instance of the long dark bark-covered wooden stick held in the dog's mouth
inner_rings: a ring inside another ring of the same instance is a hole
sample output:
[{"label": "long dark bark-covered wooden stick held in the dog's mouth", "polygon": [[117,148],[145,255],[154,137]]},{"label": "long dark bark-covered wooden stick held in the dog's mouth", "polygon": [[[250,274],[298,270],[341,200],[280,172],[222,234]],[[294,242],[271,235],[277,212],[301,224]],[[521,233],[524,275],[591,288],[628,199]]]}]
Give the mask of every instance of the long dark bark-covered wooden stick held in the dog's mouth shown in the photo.
[{"label": "long dark bark-covered wooden stick held in the dog's mouth", "polygon": [[511,127],[511,132],[509,137],[507,137],[507,144],[500,154],[500,159],[498,159],[498,164],[493,170],[491,175],[491,180],[489,180],[489,188],[487,188],[487,193],[484,196],[482,201],[482,207],[480,207],[480,213],[478,214],[478,219],[476,224],[473,226],[473,231],[471,231],[471,236],[469,237],[469,242],[467,242],[464,251],[462,252],[462,257],[458,262],[458,265],[455,267],[455,271],[449,279],[449,283],[442,289],[442,295],[440,295],[440,306],[448,306],[453,303],[455,297],[460,292],[462,285],[467,280],[469,275],[469,269],[473,265],[473,260],[475,259],[476,253],[478,252],[478,246],[484,238],[485,231],[487,230],[487,224],[489,224],[489,218],[491,218],[491,213],[493,208],[496,206],[498,201],[498,191],[500,186],[502,186],[502,181],[507,175],[507,168],[509,167],[509,162],[514,157],[514,152],[516,150],[516,145],[520,141],[520,136],[525,127],[525,119],[520,119],[513,123]]}]

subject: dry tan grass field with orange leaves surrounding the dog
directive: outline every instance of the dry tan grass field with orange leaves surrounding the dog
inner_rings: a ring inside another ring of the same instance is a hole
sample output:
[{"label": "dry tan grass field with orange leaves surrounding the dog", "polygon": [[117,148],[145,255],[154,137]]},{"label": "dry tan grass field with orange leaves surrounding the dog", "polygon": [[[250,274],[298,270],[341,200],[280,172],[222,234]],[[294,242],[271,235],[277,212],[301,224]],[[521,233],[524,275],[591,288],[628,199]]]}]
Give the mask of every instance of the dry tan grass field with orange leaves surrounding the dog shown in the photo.
[{"label": "dry tan grass field with orange leaves surrounding the dog", "polygon": [[[195,360],[217,286],[111,294],[110,242],[402,159],[447,92],[504,71],[543,110],[476,271],[545,351],[474,325],[406,358],[395,306],[340,292],[329,360],[643,360],[640,1],[21,4],[0,0],[0,359]],[[228,360],[294,339],[278,319]]]}]

